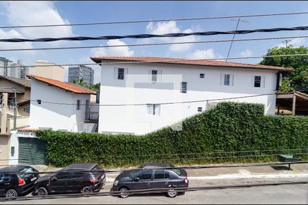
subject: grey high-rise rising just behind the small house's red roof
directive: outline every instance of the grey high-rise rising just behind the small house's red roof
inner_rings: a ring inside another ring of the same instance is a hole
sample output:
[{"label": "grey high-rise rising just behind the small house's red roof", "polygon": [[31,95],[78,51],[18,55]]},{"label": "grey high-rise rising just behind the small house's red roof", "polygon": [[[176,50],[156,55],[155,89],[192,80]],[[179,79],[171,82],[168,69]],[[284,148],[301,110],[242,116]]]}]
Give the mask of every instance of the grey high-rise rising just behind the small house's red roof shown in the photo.
[{"label": "grey high-rise rising just behind the small house's red roof", "polygon": [[68,68],[68,82],[82,79],[88,85],[93,85],[94,70],[89,66],[80,65]]}]

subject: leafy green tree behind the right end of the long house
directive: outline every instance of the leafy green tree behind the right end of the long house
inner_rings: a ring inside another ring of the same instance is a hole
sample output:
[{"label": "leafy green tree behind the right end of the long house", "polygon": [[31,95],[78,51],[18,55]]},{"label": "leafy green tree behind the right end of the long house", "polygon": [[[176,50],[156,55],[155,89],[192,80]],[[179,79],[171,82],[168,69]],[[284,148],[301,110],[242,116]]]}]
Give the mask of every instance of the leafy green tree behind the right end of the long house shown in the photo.
[{"label": "leafy green tree behind the right end of the long house", "polygon": [[[286,47],[275,46],[272,49],[268,49],[266,55],[290,54],[308,54],[308,48],[305,46],[294,48],[292,45]],[[283,74],[281,91],[298,90],[305,93],[308,92],[308,56],[265,57],[259,64],[293,68],[291,72]]]}]

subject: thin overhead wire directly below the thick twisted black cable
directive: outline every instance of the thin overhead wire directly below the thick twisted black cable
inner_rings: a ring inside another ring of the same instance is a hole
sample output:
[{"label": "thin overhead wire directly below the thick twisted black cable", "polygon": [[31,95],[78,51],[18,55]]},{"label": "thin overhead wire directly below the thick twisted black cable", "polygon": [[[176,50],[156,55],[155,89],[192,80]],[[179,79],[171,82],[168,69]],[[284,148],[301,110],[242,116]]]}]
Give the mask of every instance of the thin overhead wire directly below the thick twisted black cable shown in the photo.
[{"label": "thin overhead wire directly below the thick twisted black cable", "polygon": [[60,50],[60,49],[96,49],[96,48],[112,48],[112,47],[130,47],[130,46],[164,46],[172,44],[198,44],[198,43],[216,43],[216,42],[238,42],[238,41],[256,41],[256,40],[278,40],[286,38],[308,38],[308,36],[283,36],[270,38],[242,38],[242,39],[226,39],[226,40],[201,40],[188,42],[163,42],[151,44],[118,44],[118,45],[99,45],[99,46],[66,46],[66,47],[47,47],[47,48],[24,48],[24,49],[0,49],[0,51],[44,51],[44,50]]}]

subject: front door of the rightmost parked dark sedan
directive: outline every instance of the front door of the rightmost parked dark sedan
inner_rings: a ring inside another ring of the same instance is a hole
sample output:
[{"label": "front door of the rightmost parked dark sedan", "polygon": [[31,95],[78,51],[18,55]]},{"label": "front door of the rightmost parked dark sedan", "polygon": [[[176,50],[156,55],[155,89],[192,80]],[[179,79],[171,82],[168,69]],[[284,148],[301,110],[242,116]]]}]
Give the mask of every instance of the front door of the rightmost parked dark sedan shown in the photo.
[{"label": "front door of the rightmost parked dark sedan", "polygon": [[134,177],[131,189],[151,189],[152,176],[153,171],[151,170],[140,172]]}]

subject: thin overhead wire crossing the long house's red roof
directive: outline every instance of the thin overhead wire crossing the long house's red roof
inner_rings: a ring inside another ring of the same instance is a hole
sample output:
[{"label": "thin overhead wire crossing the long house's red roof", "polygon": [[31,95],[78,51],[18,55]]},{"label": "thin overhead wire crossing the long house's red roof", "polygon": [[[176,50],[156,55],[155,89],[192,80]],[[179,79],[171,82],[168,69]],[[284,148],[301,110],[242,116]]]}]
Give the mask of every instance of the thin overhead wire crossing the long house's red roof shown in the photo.
[{"label": "thin overhead wire crossing the long house's red roof", "polygon": [[[250,57],[229,57],[228,59],[255,59],[266,57],[295,57],[295,56],[308,56],[307,53],[303,54],[287,54],[287,55],[259,55]],[[154,61],[116,61],[116,62],[102,62],[102,63],[88,63],[88,64],[47,64],[40,66],[0,66],[0,68],[16,68],[16,67],[50,67],[50,66],[97,66],[97,65],[114,65],[114,64],[150,64],[150,63],[168,63],[168,62],[188,62],[188,61],[211,61],[211,60],[223,60],[227,57],[207,58],[207,59],[168,59],[168,60],[154,60]],[[120,59],[119,59],[120,60]],[[262,68],[259,68],[262,69]]]}]

